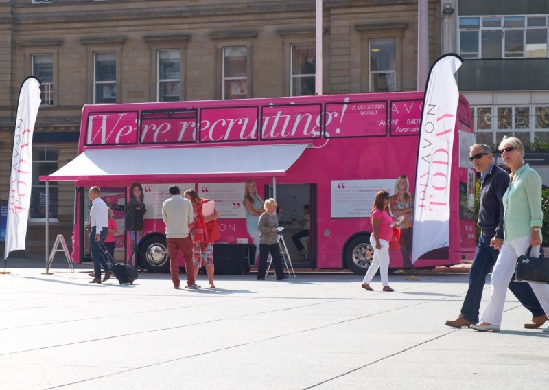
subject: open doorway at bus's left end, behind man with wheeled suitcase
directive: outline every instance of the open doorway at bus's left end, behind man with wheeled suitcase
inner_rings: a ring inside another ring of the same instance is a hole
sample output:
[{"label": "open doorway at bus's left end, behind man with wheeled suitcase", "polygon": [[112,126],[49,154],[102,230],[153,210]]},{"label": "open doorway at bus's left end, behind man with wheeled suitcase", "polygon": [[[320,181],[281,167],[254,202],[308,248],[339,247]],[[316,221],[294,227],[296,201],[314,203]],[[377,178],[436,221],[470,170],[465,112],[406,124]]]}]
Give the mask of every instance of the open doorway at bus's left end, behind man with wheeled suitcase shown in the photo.
[{"label": "open doorway at bus's left end, behind man with wheeled suitcase", "polygon": [[[84,262],[91,262],[91,253],[89,246],[89,226],[91,201],[88,198],[90,187],[80,187],[78,194],[80,197],[80,258]],[[115,233],[115,260],[124,261],[126,259],[126,235],[124,234],[124,222],[126,217],[126,187],[101,187],[101,198],[107,204],[108,208],[113,210],[113,216],[118,227]]]}]

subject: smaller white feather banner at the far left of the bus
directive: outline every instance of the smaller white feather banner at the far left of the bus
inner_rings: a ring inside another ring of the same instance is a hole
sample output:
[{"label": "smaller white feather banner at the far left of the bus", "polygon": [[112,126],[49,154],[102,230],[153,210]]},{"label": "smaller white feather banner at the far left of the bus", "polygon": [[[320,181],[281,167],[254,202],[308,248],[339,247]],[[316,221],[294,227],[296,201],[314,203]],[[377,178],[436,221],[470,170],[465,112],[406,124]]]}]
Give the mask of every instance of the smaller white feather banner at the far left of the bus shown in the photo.
[{"label": "smaller white feather banner at the far left of the bus", "polygon": [[21,84],[17,104],[4,260],[11,251],[25,249],[32,187],[32,134],[40,102],[40,81],[29,76]]}]

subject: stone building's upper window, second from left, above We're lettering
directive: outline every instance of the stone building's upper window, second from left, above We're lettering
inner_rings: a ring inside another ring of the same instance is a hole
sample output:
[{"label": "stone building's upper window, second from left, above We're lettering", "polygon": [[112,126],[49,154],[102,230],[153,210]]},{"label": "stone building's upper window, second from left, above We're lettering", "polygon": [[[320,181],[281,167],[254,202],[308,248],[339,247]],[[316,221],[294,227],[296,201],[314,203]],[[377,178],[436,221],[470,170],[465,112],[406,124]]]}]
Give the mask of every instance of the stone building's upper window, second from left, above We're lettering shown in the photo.
[{"label": "stone building's upper window, second from left, above We're lettering", "polygon": [[94,53],[94,103],[116,103],[116,52]]}]

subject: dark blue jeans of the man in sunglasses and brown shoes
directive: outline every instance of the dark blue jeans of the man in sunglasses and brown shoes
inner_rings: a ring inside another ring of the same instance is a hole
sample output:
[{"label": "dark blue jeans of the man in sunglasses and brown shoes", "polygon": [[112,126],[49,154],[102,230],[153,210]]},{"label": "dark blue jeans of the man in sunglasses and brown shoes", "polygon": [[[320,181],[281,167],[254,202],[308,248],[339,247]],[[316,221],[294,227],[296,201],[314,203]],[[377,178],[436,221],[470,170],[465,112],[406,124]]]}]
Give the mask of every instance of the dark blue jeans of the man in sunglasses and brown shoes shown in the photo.
[{"label": "dark blue jeans of the man in sunglasses and brown shoes", "polygon": [[[478,309],[480,308],[480,299],[482,299],[482,290],[486,282],[486,275],[492,270],[495,260],[498,260],[499,252],[490,246],[491,237],[480,236],[476,249],[475,259],[469,270],[469,288],[465,295],[465,301],[461,307],[461,315],[473,323],[478,323]],[[513,279],[515,275],[513,274]],[[530,284],[524,282],[515,282],[511,279],[509,290],[522,303],[522,305],[532,312],[532,316],[544,314]]]}]

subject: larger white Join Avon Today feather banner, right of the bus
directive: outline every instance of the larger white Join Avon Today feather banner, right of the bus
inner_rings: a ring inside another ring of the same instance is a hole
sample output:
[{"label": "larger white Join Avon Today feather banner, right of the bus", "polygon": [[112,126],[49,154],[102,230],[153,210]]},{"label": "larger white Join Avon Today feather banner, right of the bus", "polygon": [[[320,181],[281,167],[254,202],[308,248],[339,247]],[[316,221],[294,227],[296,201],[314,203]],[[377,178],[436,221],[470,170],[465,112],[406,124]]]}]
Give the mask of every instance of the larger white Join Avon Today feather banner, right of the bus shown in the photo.
[{"label": "larger white Join Avon Today feather banner, right of the bus", "polygon": [[433,249],[449,246],[450,175],[459,91],[454,73],[460,56],[445,54],[432,65],[419,133],[412,264]]}]

